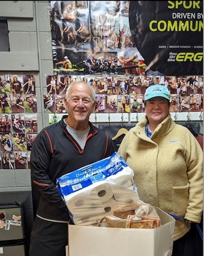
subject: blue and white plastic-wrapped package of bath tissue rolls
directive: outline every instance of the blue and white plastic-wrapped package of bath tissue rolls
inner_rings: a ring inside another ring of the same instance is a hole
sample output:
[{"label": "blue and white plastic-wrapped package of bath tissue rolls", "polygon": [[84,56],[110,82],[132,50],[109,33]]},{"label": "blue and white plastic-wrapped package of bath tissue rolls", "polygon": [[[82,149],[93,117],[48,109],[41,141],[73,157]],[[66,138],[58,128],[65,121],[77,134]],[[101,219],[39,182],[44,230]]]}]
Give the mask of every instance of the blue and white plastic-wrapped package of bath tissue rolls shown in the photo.
[{"label": "blue and white plastic-wrapped package of bath tissue rolls", "polygon": [[107,214],[138,202],[134,172],[116,152],[63,175],[57,188],[76,225],[94,225]]}]

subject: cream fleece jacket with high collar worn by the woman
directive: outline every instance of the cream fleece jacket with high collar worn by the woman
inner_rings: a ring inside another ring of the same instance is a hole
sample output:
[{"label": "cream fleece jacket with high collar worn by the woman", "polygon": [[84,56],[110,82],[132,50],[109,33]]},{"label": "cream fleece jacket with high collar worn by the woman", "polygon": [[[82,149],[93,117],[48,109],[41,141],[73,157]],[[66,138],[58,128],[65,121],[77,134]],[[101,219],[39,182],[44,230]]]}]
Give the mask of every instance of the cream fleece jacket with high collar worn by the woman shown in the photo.
[{"label": "cream fleece jacket with high collar worn by the woman", "polygon": [[[202,149],[170,114],[148,138],[144,116],[123,138],[118,153],[134,170],[140,199],[171,214],[199,223],[202,214]],[[184,236],[190,223],[175,221],[173,239]]]}]

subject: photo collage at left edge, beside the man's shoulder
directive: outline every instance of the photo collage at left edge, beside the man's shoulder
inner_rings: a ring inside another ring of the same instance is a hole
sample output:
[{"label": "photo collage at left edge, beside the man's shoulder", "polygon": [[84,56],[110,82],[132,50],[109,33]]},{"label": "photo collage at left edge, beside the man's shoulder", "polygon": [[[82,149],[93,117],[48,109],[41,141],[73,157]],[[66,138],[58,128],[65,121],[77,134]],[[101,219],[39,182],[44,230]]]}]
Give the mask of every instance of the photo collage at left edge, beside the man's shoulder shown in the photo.
[{"label": "photo collage at left edge, beside the man's shoulder", "polygon": [[0,74],[0,168],[30,168],[38,134],[35,76]]}]

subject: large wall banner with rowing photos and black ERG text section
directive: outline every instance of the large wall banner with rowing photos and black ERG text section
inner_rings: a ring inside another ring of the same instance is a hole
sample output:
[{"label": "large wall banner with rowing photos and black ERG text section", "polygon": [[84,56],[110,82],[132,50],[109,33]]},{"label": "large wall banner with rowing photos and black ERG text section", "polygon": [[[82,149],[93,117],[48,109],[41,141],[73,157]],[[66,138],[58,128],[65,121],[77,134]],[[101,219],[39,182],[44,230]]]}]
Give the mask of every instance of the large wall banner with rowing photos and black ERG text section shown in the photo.
[{"label": "large wall banner with rowing photos and black ERG text section", "polygon": [[202,75],[202,1],[49,1],[55,74]]}]

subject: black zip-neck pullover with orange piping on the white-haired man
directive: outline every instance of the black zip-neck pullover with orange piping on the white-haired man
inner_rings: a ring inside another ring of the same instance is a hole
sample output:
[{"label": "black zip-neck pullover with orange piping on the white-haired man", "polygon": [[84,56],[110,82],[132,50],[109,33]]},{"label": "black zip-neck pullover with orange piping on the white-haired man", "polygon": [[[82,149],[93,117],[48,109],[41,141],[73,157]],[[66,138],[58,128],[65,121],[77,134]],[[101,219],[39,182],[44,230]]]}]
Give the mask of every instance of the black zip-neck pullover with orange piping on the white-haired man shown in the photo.
[{"label": "black zip-neck pullover with orange piping on the white-haired man", "polygon": [[[67,132],[64,118],[42,129],[31,150],[33,200],[40,199],[36,214],[50,220],[69,221],[68,209],[56,187],[56,179],[73,170],[111,156],[115,150],[107,133],[89,122],[84,149]],[[36,197],[36,198],[35,198]]]}]

